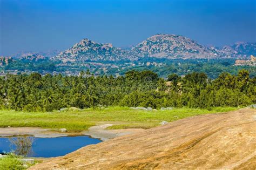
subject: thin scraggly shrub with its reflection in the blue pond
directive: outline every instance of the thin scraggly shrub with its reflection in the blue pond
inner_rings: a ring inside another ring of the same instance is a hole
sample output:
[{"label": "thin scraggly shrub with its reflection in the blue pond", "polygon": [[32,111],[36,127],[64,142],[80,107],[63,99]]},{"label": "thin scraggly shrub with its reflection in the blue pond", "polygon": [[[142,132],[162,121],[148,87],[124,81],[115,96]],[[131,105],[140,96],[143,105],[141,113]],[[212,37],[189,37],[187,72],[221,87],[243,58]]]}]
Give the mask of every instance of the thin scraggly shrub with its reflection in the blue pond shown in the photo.
[{"label": "thin scraggly shrub with its reflection in the blue pond", "polygon": [[[24,157],[33,154],[32,145],[35,141],[33,137],[17,137],[9,138],[11,148],[15,148],[14,152],[17,155],[23,155]],[[14,146],[14,147],[13,147]]]}]

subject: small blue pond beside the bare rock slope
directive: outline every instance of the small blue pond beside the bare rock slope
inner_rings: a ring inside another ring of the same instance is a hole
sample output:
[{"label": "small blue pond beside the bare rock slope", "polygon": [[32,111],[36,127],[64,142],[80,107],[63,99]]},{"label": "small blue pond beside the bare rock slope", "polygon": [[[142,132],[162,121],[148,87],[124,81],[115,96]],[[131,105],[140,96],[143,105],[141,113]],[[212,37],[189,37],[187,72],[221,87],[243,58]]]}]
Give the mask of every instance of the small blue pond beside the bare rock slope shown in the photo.
[{"label": "small blue pond beside the bare rock slope", "polygon": [[86,145],[98,144],[99,139],[89,136],[35,138],[9,137],[0,138],[0,153],[14,151],[24,157],[59,157]]}]

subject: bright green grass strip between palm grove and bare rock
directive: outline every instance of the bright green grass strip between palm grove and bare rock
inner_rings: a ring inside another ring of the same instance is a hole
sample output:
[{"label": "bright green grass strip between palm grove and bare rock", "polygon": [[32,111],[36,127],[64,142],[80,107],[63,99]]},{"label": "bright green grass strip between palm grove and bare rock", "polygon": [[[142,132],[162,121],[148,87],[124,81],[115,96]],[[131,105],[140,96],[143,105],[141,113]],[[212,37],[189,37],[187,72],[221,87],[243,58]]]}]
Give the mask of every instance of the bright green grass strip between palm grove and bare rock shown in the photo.
[{"label": "bright green grass strip between palm grove and bare rock", "polygon": [[87,108],[67,112],[18,112],[0,110],[0,127],[66,128],[82,131],[97,123],[113,123],[109,128],[151,128],[161,121],[174,121],[193,115],[236,110],[235,107],[215,107],[211,111],[197,108],[174,108],[167,111],[132,110],[128,107]]}]

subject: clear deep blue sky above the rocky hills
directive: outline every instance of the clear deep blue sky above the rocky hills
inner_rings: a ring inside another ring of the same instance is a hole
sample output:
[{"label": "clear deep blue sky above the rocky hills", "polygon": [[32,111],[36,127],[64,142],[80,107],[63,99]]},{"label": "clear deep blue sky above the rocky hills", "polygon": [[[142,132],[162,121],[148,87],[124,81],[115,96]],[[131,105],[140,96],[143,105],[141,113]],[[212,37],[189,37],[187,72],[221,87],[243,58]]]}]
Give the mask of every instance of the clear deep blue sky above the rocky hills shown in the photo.
[{"label": "clear deep blue sky above the rocky hills", "polygon": [[255,30],[255,0],[0,0],[0,56],[82,38],[125,48],[156,33],[223,46],[256,42]]}]

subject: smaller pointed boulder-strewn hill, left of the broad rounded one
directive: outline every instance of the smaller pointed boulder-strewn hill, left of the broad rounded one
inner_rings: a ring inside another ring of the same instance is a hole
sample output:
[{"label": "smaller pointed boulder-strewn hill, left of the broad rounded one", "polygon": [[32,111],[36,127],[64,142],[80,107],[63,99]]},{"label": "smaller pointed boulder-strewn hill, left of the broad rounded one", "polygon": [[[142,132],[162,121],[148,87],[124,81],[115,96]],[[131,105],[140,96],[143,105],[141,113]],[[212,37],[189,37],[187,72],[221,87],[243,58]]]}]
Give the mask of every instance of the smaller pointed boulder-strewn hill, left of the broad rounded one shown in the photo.
[{"label": "smaller pointed boulder-strewn hill, left of the broad rounded one", "polygon": [[60,52],[59,55],[52,59],[61,60],[63,63],[136,59],[136,57],[129,54],[129,51],[114,47],[112,44],[100,44],[85,38],[80,40],[79,43],[73,45],[70,49]]}]

